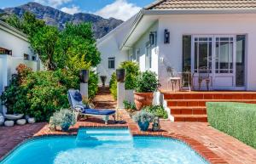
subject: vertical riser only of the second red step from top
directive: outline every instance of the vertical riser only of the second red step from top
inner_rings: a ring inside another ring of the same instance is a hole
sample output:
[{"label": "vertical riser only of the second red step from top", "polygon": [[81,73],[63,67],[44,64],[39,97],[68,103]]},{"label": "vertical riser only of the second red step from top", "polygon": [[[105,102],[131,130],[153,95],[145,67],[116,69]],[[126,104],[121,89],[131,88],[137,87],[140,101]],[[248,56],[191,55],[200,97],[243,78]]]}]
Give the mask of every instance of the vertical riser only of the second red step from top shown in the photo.
[{"label": "vertical riser only of the second red step from top", "polygon": [[[167,105],[168,106],[206,106],[207,102],[211,102],[211,101],[167,101]],[[249,103],[249,104],[256,104],[256,100],[255,101],[232,101],[232,100],[228,100],[228,101],[221,101],[221,102],[241,102],[241,103]]]}]

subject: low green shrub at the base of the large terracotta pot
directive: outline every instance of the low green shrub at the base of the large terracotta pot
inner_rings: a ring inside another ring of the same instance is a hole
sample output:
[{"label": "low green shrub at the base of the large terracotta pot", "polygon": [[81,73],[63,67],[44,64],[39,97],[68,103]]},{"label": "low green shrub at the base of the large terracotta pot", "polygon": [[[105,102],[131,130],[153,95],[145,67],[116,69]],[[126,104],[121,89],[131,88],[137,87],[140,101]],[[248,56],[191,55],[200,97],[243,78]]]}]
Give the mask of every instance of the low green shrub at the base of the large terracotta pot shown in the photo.
[{"label": "low green shrub at the base of the large terracotta pot", "polygon": [[160,118],[168,118],[167,111],[162,105],[150,105],[145,106],[143,110],[148,111],[149,113],[154,114],[154,116],[158,116]]}]

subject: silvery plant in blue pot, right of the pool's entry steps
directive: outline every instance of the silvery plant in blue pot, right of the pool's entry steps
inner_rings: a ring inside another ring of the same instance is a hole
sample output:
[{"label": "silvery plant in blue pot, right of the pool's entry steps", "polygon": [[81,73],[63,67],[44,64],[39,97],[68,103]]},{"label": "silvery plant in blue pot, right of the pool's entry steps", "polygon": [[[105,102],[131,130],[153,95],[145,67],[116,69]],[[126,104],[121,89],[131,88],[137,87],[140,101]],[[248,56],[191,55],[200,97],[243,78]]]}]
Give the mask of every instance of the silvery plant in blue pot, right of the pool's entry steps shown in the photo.
[{"label": "silvery plant in blue pot, right of the pool's entry steps", "polygon": [[137,122],[141,131],[147,131],[149,123],[152,122],[154,119],[154,115],[145,110],[141,110],[138,111],[134,116],[132,116],[132,119],[134,122]]}]

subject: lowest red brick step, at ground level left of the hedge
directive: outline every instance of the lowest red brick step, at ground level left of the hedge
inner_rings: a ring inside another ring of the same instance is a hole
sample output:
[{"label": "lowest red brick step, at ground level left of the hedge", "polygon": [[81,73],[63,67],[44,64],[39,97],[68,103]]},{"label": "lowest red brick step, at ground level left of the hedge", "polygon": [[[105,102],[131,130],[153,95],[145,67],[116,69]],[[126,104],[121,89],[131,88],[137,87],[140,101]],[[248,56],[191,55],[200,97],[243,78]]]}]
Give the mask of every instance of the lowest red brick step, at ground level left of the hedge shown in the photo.
[{"label": "lowest red brick step, at ground level left of the hedge", "polygon": [[172,115],[174,122],[207,122],[207,115]]}]

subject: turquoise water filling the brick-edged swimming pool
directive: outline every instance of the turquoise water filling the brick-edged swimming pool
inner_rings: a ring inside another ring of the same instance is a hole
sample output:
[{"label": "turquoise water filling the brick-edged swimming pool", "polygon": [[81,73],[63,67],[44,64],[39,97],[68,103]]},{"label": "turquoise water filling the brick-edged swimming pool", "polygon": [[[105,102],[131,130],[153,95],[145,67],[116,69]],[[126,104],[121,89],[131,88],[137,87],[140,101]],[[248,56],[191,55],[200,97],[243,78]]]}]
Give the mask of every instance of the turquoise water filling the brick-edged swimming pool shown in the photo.
[{"label": "turquoise water filling the brick-edged swimming pool", "polygon": [[175,139],[131,137],[127,129],[81,128],[77,137],[45,137],[20,145],[1,164],[201,164]]}]

